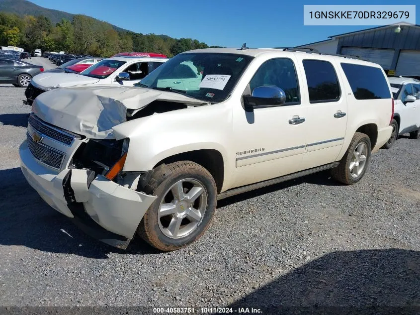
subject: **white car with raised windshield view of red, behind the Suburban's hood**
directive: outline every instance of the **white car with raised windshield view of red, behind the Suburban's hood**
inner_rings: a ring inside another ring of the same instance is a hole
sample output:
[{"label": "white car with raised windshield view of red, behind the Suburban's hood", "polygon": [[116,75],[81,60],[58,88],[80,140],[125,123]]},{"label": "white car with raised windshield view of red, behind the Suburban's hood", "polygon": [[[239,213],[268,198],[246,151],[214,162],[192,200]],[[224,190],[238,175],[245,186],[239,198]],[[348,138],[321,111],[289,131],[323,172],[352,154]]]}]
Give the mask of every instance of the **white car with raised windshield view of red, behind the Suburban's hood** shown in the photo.
[{"label": "white car with raised windshield view of red, behind the Suburban's hood", "polygon": [[112,84],[132,87],[167,60],[168,58],[124,56],[103,59],[81,73],[49,72],[34,77],[25,95],[31,95],[31,99],[35,100],[45,91],[81,85]]}]

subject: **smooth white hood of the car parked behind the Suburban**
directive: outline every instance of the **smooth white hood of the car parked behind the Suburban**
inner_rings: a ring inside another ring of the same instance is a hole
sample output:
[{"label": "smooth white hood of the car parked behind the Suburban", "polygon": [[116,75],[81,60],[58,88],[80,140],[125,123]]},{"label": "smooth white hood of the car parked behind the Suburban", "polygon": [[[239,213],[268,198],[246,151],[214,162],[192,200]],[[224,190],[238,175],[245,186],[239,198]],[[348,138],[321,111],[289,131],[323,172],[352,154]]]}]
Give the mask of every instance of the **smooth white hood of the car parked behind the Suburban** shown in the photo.
[{"label": "smooth white hood of the car parked behind the Suburban", "polygon": [[42,72],[32,78],[31,84],[41,90],[48,91],[97,82],[99,82],[99,79],[82,76],[77,73]]}]

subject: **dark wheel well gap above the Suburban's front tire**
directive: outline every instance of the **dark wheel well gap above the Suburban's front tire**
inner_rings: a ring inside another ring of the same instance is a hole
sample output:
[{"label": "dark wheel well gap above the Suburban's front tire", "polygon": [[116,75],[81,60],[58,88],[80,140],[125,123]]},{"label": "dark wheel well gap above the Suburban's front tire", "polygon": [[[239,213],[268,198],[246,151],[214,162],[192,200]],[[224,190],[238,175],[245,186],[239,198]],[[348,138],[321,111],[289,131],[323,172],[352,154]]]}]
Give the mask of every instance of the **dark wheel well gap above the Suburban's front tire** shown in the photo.
[{"label": "dark wheel well gap above the Suburban's front tire", "polygon": [[219,151],[203,149],[175,154],[160,161],[154,168],[161,164],[169,164],[177,161],[192,161],[200,164],[213,176],[213,179],[216,182],[217,192],[220,193],[223,186],[225,168],[222,154]]}]

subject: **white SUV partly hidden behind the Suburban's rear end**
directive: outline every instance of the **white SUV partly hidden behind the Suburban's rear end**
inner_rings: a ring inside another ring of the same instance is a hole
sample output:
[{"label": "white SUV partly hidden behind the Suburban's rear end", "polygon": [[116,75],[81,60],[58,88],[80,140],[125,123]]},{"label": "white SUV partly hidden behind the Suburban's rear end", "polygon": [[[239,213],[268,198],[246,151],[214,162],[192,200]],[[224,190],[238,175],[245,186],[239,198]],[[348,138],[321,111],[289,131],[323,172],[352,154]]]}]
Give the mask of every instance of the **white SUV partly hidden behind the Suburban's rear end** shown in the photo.
[{"label": "white SUV partly hidden behind the Suburban's rear end", "polygon": [[410,133],[410,138],[420,139],[420,81],[404,77],[390,77],[388,81],[395,107],[393,131],[384,145],[386,149],[392,147],[400,134]]}]

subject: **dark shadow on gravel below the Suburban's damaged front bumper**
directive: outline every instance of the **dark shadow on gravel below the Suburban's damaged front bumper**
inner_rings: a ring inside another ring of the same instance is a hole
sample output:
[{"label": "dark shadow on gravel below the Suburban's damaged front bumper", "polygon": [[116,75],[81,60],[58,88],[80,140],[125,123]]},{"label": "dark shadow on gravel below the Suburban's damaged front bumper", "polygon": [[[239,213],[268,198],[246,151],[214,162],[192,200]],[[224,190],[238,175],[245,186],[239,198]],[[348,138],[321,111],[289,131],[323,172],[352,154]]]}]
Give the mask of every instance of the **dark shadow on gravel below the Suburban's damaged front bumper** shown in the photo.
[{"label": "dark shadow on gravel below the Suburban's damaged front bumper", "polygon": [[88,258],[108,258],[108,253],[158,254],[135,238],[121,250],[84,234],[65,215],[49,207],[26,182],[19,168],[0,170],[0,244],[20,245]]}]

